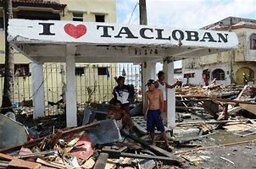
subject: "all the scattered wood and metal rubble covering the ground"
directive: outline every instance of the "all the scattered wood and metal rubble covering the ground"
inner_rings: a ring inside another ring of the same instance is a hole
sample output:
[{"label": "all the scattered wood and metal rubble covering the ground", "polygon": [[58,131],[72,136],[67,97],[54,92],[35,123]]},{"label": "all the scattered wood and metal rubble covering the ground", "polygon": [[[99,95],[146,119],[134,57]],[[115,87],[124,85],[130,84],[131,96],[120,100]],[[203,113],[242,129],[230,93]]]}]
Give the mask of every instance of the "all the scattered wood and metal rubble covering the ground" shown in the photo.
[{"label": "all the scattered wood and metal rubble covering the ground", "polygon": [[247,151],[255,150],[256,104],[251,90],[234,85],[178,88],[176,127],[166,128],[175,147],[172,152],[165,149],[159,134],[157,145],[150,144],[142,104],[131,107],[140,134],[120,130],[115,121],[106,120],[111,109],[106,103],[79,106],[77,128],[64,128],[64,110],[59,108],[60,115],[33,121],[28,120],[31,109],[26,113],[19,107],[14,114],[0,114],[0,168],[193,168],[213,161],[232,168],[238,165],[232,154],[238,152],[216,156],[215,150],[241,144]]}]

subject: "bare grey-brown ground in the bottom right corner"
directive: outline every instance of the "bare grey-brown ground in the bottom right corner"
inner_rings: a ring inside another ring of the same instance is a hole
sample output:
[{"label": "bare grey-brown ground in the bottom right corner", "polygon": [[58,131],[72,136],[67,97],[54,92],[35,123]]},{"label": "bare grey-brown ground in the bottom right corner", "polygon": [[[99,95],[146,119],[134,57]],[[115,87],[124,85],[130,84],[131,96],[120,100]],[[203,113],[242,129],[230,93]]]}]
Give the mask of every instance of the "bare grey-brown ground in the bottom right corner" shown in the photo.
[{"label": "bare grey-brown ground in the bottom right corner", "polygon": [[[249,141],[248,140],[254,140]],[[195,141],[194,144],[201,144],[196,149],[184,155],[199,157],[202,160],[195,162],[186,161],[182,168],[202,169],[251,169],[256,168],[256,134],[240,137],[235,134],[220,131],[209,138]],[[233,144],[244,142],[243,144]],[[220,146],[218,146],[220,144]],[[223,145],[225,146],[223,146]],[[203,147],[205,149],[203,149]],[[201,149],[201,150],[200,150]],[[181,149],[183,150],[183,149]],[[188,150],[188,149],[187,149]]]}]

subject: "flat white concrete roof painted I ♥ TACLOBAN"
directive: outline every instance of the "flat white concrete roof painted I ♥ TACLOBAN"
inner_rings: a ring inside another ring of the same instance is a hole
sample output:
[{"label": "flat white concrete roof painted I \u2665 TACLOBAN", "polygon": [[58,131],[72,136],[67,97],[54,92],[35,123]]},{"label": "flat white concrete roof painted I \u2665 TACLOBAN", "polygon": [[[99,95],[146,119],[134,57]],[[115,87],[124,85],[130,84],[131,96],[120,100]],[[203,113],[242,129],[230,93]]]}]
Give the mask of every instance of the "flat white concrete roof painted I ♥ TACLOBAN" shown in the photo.
[{"label": "flat white concrete roof painted I \u2665 TACLOBAN", "polygon": [[8,41],[40,63],[143,63],[181,60],[237,48],[237,34],[147,25],[10,19]]}]

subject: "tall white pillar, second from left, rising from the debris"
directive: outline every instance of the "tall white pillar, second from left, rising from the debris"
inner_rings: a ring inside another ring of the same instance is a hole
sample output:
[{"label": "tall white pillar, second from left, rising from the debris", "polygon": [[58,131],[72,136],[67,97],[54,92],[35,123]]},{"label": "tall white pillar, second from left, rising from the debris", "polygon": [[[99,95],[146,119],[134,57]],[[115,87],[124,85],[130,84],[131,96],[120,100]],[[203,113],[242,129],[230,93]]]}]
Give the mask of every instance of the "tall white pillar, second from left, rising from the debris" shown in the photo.
[{"label": "tall white pillar, second from left, rising from the debris", "polygon": [[75,93],[75,46],[67,46],[66,57],[66,123],[67,128],[77,126],[76,93]]}]

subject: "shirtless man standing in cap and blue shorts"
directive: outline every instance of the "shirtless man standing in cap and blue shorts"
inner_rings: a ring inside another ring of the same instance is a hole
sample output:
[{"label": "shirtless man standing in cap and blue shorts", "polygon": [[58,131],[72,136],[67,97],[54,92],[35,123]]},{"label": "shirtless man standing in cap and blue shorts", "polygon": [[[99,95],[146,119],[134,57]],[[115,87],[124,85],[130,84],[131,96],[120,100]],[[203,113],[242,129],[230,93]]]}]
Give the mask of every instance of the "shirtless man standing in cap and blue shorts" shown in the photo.
[{"label": "shirtless man standing in cap and blue shorts", "polygon": [[167,146],[167,150],[172,150],[173,147],[168,143],[164,131],[163,123],[163,110],[164,110],[164,97],[163,92],[159,89],[156,89],[155,81],[149,79],[147,81],[147,92],[145,95],[145,104],[144,104],[144,118],[147,120],[147,131],[151,135],[152,144],[155,145],[154,138],[154,128],[156,127],[162,134],[164,142]]}]

